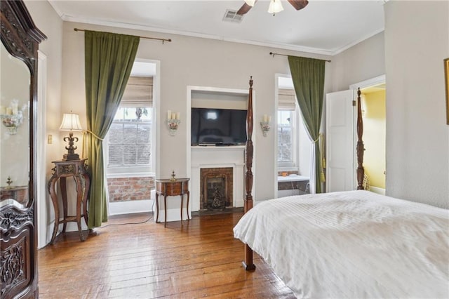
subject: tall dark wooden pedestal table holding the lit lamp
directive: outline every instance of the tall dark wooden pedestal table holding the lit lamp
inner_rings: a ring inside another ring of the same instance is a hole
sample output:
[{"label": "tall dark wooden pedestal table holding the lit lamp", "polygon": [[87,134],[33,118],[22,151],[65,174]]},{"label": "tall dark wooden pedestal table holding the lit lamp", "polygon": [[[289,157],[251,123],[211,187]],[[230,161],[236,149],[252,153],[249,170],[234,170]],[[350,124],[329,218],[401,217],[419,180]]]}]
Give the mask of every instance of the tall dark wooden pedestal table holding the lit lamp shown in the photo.
[{"label": "tall dark wooden pedestal table holding the lit lamp", "polygon": [[[91,178],[89,178],[86,166],[87,159],[68,160],[68,161],[53,161],[55,167],[52,169],[53,175],[48,180],[48,192],[50,192],[51,201],[53,201],[53,208],[55,208],[55,227],[53,228],[53,235],[50,243],[55,240],[58,233],[58,227],[62,223],[62,232],[65,232],[67,222],[76,222],[78,224],[79,239],[81,241],[86,240],[81,230],[81,218],[84,221],[88,220],[87,212],[87,197],[89,187],[91,187]],[[67,185],[66,179],[74,177],[76,183],[76,215],[67,215]],[[58,194],[56,194],[56,182],[60,180],[61,197],[62,197],[62,209],[64,211],[64,217],[60,220]],[[83,213],[81,213],[81,204],[83,205]]]}]

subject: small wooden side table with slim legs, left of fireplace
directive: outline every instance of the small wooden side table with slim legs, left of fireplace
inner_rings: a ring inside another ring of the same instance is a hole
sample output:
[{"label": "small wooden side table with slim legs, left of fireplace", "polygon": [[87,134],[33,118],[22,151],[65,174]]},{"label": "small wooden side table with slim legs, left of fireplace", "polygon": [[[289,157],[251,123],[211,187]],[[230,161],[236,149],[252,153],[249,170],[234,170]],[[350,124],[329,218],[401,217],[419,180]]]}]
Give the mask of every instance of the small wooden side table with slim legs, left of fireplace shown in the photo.
[{"label": "small wooden side table with slim legs, left of fireplace", "polygon": [[167,226],[167,197],[175,197],[180,195],[181,197],[181,223],[182,223],[182,206],[184,201],[184,194],[187,194],[187,220],[189,218],[189,178],[177,178],[176,180],[170,179],[156,179],[156,222],[159,222],[159,195],[163,196],[163,210],[165,212],[165,223]]}]

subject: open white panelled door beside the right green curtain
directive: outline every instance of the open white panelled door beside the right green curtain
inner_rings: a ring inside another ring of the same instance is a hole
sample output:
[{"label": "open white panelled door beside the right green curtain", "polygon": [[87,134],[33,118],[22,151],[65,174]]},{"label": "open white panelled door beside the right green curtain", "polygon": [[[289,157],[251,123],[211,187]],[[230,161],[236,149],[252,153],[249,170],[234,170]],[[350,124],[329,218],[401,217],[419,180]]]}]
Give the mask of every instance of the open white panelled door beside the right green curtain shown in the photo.
[{"label": "open white panelled door beside the right green curtain", "polygon": [[354,91],[326,95],[326,192],[354,190]]}]

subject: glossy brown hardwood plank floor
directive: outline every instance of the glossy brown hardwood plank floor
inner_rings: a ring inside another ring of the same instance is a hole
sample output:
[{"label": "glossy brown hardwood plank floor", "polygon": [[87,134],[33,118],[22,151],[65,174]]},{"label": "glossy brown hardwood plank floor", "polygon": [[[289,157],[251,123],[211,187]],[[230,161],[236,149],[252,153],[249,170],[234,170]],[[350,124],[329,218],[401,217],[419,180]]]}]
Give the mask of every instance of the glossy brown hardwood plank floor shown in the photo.
[{"label": "glossy brown hardwood plank floor", "polygon": [[259,255],[243,270],[232,233],[243,213],[116,225],[151,215],[110,219],[83,242],[60,234],[38,252],[39,298],[295,298]]}]

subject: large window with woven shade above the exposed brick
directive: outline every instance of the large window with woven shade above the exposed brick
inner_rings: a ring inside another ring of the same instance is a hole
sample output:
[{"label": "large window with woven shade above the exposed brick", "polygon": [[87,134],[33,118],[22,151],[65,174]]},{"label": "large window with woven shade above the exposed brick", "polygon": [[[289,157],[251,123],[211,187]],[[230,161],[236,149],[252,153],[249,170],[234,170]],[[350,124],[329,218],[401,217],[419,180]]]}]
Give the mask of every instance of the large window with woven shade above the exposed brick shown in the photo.
[{"label": "large window with woven shade above the exposed brick", "polygon": [[153,78],[131,76],[107,134],[108,174],[154,171]]}]

